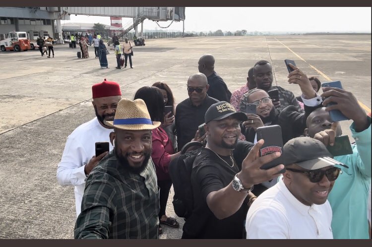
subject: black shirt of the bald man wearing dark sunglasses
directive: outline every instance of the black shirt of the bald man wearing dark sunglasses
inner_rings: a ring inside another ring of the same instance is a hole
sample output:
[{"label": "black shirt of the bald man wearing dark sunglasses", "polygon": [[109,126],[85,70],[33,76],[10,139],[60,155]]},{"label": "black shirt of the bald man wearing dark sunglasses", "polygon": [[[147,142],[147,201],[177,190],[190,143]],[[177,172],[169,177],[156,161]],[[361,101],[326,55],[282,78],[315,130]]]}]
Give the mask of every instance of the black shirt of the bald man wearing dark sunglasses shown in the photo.
[{"label": "black shirt of the bald man wearing dark sunglasses", "polygon": [[208,108],[217,103],[218,100],[206,95],[203,103],[199,106],[191,104],[190,98],[187,98],[176,107],[176,131],[178,150],[192,138],[194,138],[197,127],[204,123],[204,116]]}]

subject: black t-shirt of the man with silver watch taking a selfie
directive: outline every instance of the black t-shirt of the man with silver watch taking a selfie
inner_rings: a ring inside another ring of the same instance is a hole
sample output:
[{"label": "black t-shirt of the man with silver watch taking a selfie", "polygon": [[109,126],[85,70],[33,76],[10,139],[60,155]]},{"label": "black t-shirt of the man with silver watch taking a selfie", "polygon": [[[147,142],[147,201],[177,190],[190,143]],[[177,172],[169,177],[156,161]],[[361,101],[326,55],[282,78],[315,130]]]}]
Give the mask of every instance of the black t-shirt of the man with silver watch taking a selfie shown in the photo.
[{"label": "black t-shirt of the man with silver watch taking a selfie", "polygon": [[[184,225],[184,235],[194,239],[242,239],[244,221],[248,211],[248,199],[242,207],[230,217],[219,220],[207,206],[206,197],[212,191],[218,191],[231,183],[241,170],[242,162],[253,144],[238,141],[233,150],[236,164],[230,167],[213,151],[202,148],[194,161],[191,184],[194,196],[194,208]],[[229,157],[225,158],[226,161]],[[230,162],[228,162],[230,163]]]}]

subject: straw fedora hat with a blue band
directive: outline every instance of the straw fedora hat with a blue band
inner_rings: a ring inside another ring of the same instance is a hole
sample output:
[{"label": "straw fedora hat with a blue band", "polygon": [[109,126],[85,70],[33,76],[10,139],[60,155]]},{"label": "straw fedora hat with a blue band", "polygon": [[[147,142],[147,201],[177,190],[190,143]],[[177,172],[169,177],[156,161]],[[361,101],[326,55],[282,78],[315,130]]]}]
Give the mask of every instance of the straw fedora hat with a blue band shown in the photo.
[{"label": "straw fedora hat with a blue band", "polygon": [[141,99],[122,99],[116,108],[114,121],[106,121],[107,125],[127,130],[154,129],[160,122],[152,122],[146,104]]}]

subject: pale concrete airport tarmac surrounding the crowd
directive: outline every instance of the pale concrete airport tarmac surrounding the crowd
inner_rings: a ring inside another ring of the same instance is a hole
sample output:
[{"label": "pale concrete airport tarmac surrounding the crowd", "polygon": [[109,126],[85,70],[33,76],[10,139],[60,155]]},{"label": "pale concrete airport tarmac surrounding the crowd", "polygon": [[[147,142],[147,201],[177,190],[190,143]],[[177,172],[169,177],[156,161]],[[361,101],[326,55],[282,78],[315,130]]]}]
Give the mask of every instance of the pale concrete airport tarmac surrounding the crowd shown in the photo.
[{"label": "pale concrete airport tarmac surrounding the crowd", "polygon": [[[113,48],[112,46],[110,48]],[[56,45],[55,58],[40,52],[0,52],[0,238],[73,238],[73,187],[57,183],[56,170],[66,137],[94,118],[91,86],[104,78],[120,83],[123,98],[154,82],[166,82],[176,103],[186,99],[186,82],[197,71],[200,56],[215,57],[215,71],[231,92],[247,82],[258,60],[273,64],[273,85],[300,95],[288,84],[285,59],[322,82],[340,80],[371,111],[371,35],[186,37],[146,40],[134,47],[133,69],[116,69],[114,51],[109,69],[100,68],[89,47],[89,59],[77,59],[79,48]],[[351,121],[341,123],[350,134]],[[352,138],[351,138],[352,139]],[[173,191],[167,215],[175,216]],[[181,238],[182,226],[163,226],[162,239]]]}]

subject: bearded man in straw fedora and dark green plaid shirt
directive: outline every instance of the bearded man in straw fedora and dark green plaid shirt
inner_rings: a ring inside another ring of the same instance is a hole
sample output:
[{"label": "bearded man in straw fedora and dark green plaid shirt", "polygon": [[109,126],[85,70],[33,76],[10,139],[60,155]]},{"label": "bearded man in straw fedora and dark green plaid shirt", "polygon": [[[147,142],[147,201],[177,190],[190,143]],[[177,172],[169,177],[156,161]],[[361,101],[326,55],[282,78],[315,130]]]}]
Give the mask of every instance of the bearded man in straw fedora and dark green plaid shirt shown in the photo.
[{"label": "bearded man in straw fedora and dark green plaid shirt", "polygon": [[157,239],[159,191],[151,160],[152,122],[141,99],[122,99],[110,141],[114,150],[86,181],[75,239]]}]

